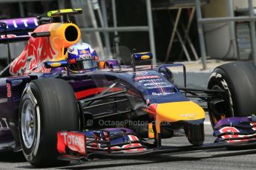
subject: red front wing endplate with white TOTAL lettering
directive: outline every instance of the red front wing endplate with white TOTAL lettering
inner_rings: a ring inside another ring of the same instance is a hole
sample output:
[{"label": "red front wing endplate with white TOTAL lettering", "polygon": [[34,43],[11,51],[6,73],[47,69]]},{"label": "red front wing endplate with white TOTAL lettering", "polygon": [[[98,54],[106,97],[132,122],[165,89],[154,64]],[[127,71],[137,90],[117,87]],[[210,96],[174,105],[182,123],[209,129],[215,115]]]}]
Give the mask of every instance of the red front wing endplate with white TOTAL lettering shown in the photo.
[{"label": "red front wing endplate with white TOTAL lettering", "polygon": [[80,132],[57,132],[57,150],[60,154],[66,153],[66,149],[87,155],[85,146],[85,134]]}]

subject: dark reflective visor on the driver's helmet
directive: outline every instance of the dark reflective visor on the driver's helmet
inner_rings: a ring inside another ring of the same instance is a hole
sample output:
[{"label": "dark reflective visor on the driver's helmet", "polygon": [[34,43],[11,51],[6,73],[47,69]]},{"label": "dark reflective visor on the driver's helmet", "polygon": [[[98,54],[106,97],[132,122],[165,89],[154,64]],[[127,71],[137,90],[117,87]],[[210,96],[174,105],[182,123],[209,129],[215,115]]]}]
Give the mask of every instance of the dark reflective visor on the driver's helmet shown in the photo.
[{"label": "dark reflective visor on the driver's helmet", "polygon": [[70,69],[79,71],[82,69],[92,69],[97,67],[97,63],[94,60],[76,61],[76,64],[70,64]]}]

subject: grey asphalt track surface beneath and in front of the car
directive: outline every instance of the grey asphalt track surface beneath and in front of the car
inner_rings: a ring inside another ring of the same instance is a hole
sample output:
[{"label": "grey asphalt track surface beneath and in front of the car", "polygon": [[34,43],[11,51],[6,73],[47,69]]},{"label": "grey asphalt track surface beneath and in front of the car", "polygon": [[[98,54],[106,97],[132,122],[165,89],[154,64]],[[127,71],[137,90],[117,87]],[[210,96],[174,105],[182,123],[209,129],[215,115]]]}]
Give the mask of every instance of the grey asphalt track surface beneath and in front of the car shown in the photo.
[{"label": "grey asphalt track surface beneath and in front of the car", "polygon": [[[214,141],[209,120],[205,125],[206,142]],[[164,140],[164,145],[186,145],[186,137]],[[203,152],[151,155],[136,160],[91,160],[85,163],[70,163],[69,166],[50,169],[255,169],[256,148],[233,150],[207,150]],[[22,153],[0,153],[0,169],[33,169]]]}]

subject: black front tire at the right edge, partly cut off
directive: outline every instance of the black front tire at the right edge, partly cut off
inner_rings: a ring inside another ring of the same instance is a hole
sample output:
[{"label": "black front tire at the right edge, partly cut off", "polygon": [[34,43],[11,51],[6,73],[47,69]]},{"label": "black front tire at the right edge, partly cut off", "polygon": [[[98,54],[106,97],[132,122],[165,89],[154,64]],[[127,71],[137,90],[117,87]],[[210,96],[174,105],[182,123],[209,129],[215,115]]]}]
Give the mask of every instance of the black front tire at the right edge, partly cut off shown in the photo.
[{"label": "black front tire at the right edge, partly cut off", "polygon": [[226,91],[223,102],[209,110],[212,127],[222,118],[256,113],[256,67],[253,63],[237,61],[220,65],[211,73],[208,89]]}]

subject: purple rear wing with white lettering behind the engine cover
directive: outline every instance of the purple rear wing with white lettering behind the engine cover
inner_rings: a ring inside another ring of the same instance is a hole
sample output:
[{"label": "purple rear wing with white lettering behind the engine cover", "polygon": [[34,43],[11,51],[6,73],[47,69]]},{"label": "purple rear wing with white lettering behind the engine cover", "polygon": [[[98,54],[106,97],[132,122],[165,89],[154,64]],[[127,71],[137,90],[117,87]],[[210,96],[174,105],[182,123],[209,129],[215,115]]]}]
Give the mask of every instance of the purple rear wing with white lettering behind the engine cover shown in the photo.
[{"label": "purple rear wing with white lettering behind the engine cover", "polygon": [[0,20],[0,44],[26,41],[38,26],[39,18],[36,17]]}]

